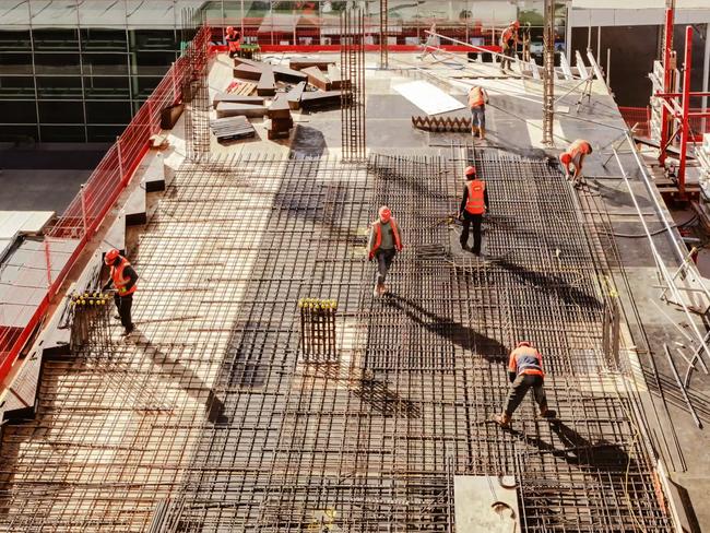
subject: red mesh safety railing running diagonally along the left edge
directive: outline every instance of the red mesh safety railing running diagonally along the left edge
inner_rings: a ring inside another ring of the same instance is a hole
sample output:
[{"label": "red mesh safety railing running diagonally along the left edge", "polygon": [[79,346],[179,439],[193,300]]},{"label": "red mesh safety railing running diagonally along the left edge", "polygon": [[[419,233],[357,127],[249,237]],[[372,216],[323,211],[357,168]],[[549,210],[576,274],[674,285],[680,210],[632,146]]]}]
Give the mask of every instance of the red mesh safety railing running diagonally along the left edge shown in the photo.
[{"label": "red mesh safety railing running diagonally along the left edge", "polygon": [[[119,194],[129,183],[131,176],[150,146],[150,138],[161,128],[161,111],[181,98],[181,87],[189,83],[204,67],[208,55],[198,54],[209,46],[211,29],[203,26],[197,33],[186,52],[173,63],[170,70],[153,94],[141,106],[123,133],[96,166],[79,194],[72,200],[61,217],[46,233],[43,279],[47,289],[44,298],[31,318],[26,318],[26,306],[3,304],[0,309],[0,383],[5,380],[12,365],[26,342],[37,329],[47,312],[52,296],[63,283],[86,242],[96,233],[99,224],[111,209]],[[198,61],[196,61],[198,58]],[[52,249],[66,249],[73,241],[76,246],[59,273],[52,274]],[[55,248],[52,248],[55,247]],[[37,283],[37,268],[21,269],[12,281],[13,287],[34,287]],[[23,324],[23,325],[21,325]]]}]

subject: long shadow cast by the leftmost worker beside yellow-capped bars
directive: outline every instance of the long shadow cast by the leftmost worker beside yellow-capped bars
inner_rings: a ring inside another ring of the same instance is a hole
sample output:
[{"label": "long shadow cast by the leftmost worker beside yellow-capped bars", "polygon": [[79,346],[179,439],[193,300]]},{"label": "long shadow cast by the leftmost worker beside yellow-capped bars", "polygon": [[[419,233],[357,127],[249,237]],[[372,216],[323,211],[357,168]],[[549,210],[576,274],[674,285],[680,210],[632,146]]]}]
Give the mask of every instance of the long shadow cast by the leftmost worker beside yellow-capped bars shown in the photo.
[{"label": "long shadow cast by the leftmost worker beside yellow-capped bars", "polygon": [[162,376],[168,376],[174,382],[184,388],[189,396],[204,405],[208,421],[213,424],[227,424],[229,422],[224,415],[224,403],[222,400],[217,398],[214,390],[200,376],[194,374],[191,368],[186,367],[174,357],[162,352],[138,329],[133,332],[131,340],[135,345],[143,347],[154,363],[163,367],[165,374],[162,374]]}]

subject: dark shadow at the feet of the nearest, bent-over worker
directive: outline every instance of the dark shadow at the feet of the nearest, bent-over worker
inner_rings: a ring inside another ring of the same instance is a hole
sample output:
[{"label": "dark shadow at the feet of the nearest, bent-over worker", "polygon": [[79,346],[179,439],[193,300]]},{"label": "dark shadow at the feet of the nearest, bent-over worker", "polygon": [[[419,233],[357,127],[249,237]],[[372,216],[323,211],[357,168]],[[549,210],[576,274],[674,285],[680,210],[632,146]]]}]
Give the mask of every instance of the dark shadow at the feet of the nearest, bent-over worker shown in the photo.
[{"label": "dark shadow at the feet of the nearest, bent-over worker", "polygon": [[634,469],[636,464],[636,461],[618,445],[605,440],[591,442],[561,421],[551,421],[549,427],[563,448],[557,448],[551,442],[545,442],[541,438],[528,436],[516,429],[511,429],[510,433],[526,445],[563,459],[568,464],[590,466],[600,472],[617,473],[626,471],[627,467]]}]

